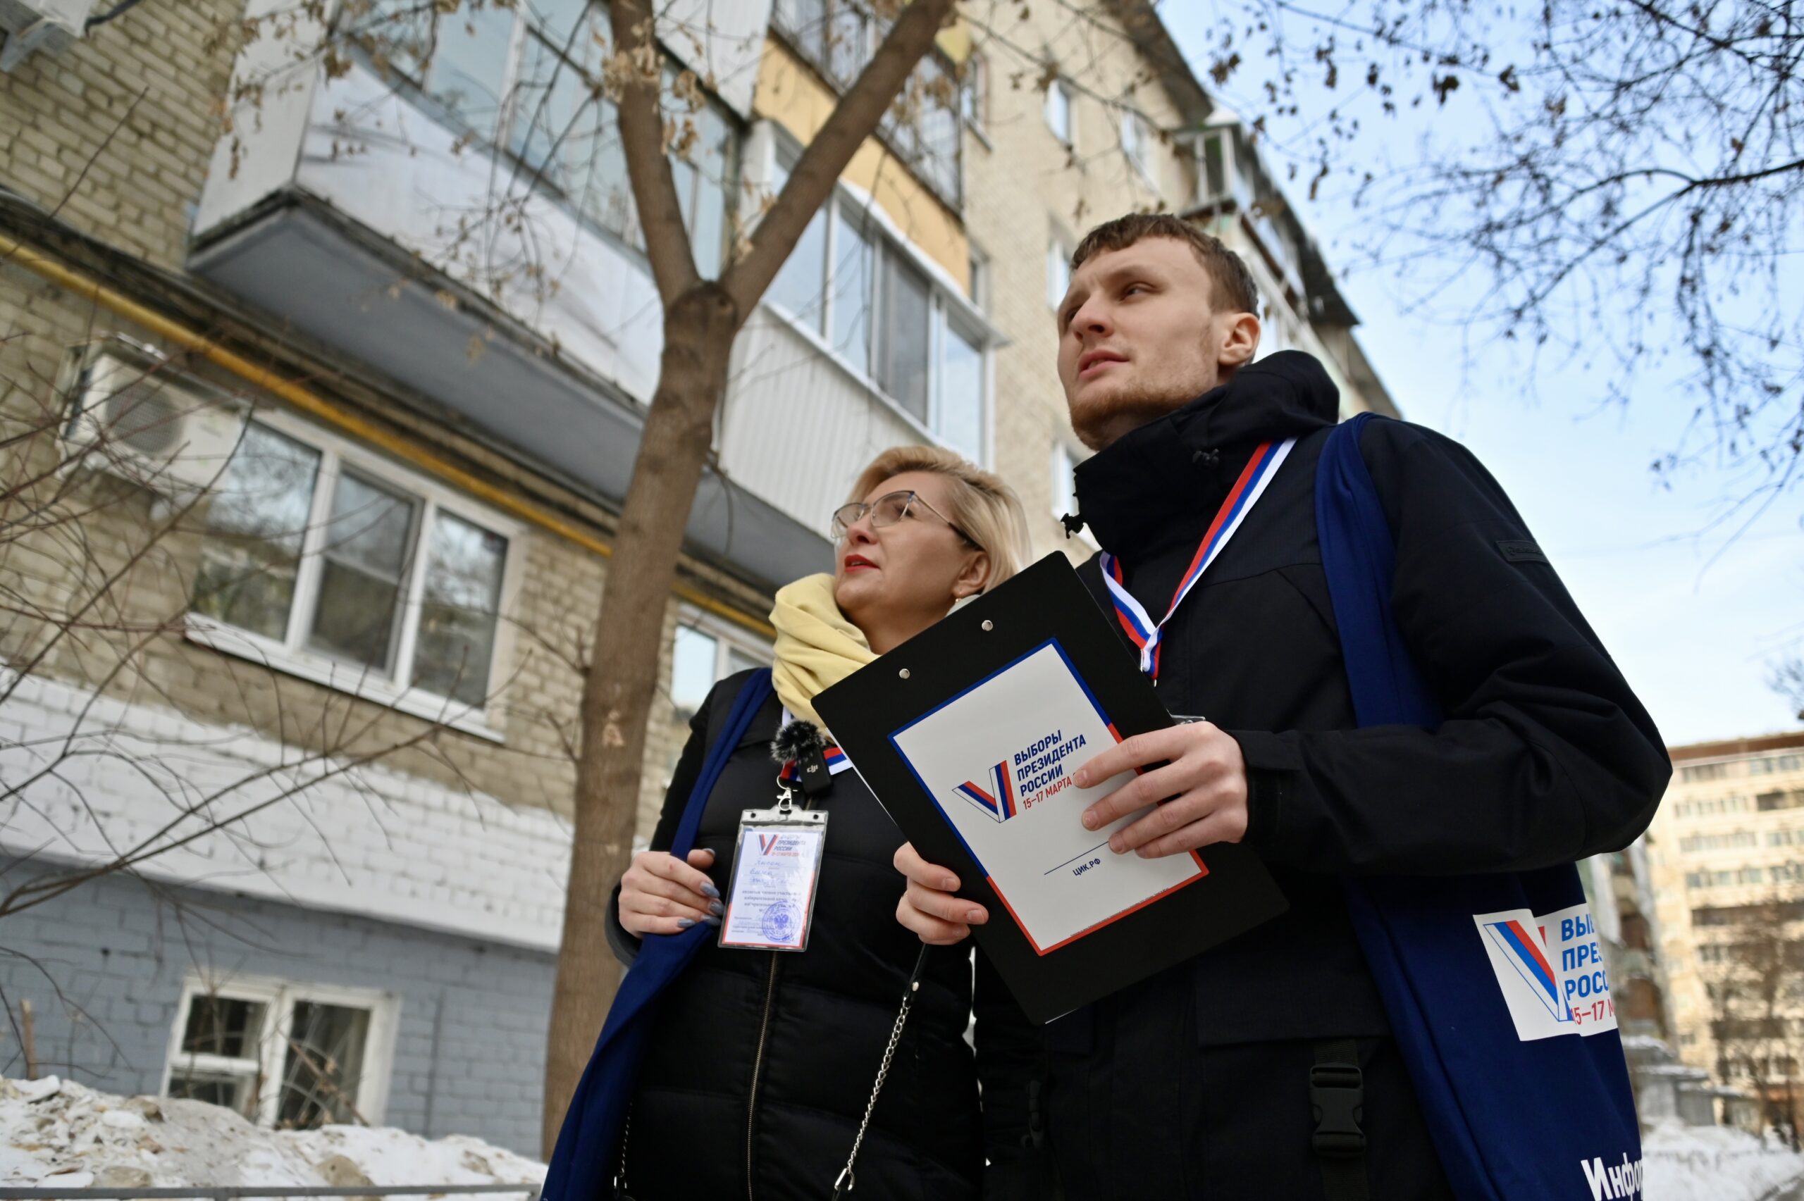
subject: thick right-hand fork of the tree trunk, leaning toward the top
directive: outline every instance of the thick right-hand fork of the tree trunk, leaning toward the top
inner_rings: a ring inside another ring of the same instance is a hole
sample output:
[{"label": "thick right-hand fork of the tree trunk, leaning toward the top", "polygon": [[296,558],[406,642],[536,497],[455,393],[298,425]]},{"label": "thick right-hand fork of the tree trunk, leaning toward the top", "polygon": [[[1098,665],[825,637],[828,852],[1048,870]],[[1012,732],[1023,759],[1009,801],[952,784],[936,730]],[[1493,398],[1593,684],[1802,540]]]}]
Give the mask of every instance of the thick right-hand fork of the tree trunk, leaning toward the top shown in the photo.
[{"label": "thick right-hand fork of the tree trunk, leaning toward the top", "polygon": [[[833,195],[841,171],[879,126],[915,65],[933,49],[933,40],[951,11],[953,0],[913,0],[889,27],[889,36],[877,47],[871,61],[846,88],[826,124],[803,150],[776,204],[752,233],[752,249],[720,280],[738,305],[741,319],[776,280],[783,260],[796,249],[815,211]],[[619,20],[615,9],[615,22]]]}]

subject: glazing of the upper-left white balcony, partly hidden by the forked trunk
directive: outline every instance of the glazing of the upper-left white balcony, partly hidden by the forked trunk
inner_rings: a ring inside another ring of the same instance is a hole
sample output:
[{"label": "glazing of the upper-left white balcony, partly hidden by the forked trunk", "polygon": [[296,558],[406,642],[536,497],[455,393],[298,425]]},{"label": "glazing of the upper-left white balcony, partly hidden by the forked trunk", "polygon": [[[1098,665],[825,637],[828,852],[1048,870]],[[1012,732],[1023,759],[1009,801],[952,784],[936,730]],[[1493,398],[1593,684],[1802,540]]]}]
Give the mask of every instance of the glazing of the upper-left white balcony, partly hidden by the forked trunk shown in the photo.
[{"label": "glazing of the upper-left white balcony, partly hidden by the forked trunk", "polygon": [[[612,32],[606,4],[534,0],[437,13],[429,4],[381,0],[361,25],[381,61],[406,76],[455,123],[505,148],[536,189],[633,249],[644,238],[633,211],[626,155],[613,103],[590,81],[601,78]],[[675,81],[676,72],[667,72]],[[695,123],[687,157],[671,153],[676,202],[695,243],[696,269],[720,274],[738,188],[738,126],[705,99],[689,112],[669,96],[666,115]]]}]

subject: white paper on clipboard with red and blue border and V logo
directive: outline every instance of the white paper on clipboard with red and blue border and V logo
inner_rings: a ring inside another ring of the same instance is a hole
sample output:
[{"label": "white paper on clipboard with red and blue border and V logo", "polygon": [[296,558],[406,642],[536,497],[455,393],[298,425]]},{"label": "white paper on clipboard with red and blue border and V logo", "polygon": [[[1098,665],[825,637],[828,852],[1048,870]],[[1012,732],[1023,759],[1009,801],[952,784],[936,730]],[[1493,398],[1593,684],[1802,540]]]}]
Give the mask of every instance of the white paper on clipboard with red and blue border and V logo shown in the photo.
[{"label": "white paper on clipboard with red and blue border and V logo", "polygon": [[1196,855],[1109,851],[1151,806],[1084,830],[1082,811],[1133,774],[1090,788],[1072,774],[1117,741],[1057,642],[891,734],[1039,954],[1209,875]]}]

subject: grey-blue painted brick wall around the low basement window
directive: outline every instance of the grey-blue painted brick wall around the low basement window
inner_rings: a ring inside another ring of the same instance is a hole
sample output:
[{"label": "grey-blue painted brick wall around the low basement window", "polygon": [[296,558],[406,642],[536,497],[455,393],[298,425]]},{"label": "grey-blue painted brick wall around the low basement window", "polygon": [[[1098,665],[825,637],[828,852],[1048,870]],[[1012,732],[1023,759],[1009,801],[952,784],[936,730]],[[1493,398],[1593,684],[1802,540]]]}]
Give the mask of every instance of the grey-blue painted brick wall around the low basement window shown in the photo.
[{"label": "grey-blue painted brick wall around the low basement window", "polygon": [[[0,884],[29,875],[11,864]],[[550,954],[130,878],[0,918],[0,990],[14,1017],[32,1001],[40,1073],[112,1093],[161,1087],[182,979],[197,968],[399,994],[384,1122],[538,1156]],[[0,1075],[22,1073],[0,1021]]]}]

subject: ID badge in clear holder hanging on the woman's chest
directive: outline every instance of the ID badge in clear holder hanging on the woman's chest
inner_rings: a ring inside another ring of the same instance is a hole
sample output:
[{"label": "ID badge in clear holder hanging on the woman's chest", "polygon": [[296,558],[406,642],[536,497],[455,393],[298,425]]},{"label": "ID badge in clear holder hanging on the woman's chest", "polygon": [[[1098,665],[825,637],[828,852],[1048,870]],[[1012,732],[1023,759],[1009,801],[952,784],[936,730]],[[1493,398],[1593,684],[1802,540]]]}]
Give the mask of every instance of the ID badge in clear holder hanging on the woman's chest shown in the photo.
[{"label": "ID badge in clear holder hanging on the woman's chest", "polygon": [[720,920],[722,947],[806,950],[826,846],[826,813],[745,810]]}]

